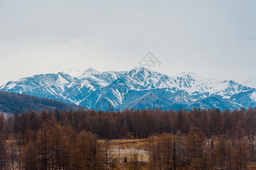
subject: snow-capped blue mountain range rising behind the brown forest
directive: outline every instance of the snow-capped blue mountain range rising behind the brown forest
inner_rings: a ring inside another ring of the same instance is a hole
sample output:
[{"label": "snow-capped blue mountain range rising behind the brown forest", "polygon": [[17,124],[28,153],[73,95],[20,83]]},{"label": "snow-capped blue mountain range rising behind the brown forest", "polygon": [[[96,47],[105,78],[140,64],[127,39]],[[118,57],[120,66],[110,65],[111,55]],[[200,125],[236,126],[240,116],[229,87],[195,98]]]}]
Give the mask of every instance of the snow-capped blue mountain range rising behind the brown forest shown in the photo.
[{"label": "snow-capped blue mountain range rising behind the brown forest", "polygon": [[7,82],[0,90],[103,111],[110,103],[120,110],[256,107],[256,89],[233,80],[203,78],[194,73],[168,76],[144,67],[104,72],[70,69]]}]

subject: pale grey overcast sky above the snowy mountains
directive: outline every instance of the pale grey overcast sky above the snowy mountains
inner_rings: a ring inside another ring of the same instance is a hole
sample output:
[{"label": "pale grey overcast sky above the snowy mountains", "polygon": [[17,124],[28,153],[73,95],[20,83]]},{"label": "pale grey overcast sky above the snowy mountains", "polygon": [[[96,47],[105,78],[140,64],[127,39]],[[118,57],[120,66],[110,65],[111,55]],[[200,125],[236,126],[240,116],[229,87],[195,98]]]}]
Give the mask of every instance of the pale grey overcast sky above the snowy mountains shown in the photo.
[{"label": "pale grey overcast sky above the snowy mountains", "polygon": [[131,70],[256,87],[256,1],[0,0],[0,85],[66,69]]}]

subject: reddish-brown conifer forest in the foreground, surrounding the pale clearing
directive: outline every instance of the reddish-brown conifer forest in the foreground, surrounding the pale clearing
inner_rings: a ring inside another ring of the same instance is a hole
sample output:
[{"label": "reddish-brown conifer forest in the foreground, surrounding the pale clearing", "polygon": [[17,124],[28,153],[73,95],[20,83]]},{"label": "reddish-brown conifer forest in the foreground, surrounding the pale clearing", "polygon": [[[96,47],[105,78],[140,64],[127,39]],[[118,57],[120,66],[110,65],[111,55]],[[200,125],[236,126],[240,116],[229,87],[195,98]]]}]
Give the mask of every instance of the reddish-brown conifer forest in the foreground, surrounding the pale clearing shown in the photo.
[{"label": "reddish-brown conifer forest in the foreground, surrounding the pale clearing", "polygon": [[[0,169],[254,169],[255,122],[251,108],[17,109],[0,116]],[[145,139],[148,159],[133,154],[120,163],[111,151],[115,139]]]}]

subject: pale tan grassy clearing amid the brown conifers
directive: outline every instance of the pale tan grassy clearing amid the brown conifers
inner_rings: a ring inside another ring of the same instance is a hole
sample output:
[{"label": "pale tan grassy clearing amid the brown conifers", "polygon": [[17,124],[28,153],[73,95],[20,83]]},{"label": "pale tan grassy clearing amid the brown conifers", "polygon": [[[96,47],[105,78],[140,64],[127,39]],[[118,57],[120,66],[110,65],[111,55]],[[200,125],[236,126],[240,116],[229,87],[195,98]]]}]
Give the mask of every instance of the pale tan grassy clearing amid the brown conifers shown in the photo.
[{"label": "pale tan grassy clearing amid the brown conifers", "polygon": [[[98,142],[104,143],[104,140],[99,140]],[[124,162],[125,156],[127,156],[128,162],[130,162],[131,155],[134,156],[134,154],[139,155],[139,162],[149,161],[148,139],[118,139],[112,140],[110,145],[117,161],[119,161],[119,147],[120,162]],[[137,152],[137,148],[139,148],[139,152]]]}]

